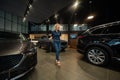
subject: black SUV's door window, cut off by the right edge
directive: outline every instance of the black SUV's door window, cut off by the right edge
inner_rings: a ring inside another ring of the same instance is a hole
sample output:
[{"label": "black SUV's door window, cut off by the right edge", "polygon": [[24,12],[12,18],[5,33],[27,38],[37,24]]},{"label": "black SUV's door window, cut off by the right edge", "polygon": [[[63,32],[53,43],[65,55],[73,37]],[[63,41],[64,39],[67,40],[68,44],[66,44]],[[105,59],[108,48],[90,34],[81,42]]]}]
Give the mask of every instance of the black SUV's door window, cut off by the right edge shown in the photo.
[{"label": "black SUV's door window, cut off by the right edge", "polygon": [[120,33],[120,25],[110,26],[105,30],[105,34]]}]

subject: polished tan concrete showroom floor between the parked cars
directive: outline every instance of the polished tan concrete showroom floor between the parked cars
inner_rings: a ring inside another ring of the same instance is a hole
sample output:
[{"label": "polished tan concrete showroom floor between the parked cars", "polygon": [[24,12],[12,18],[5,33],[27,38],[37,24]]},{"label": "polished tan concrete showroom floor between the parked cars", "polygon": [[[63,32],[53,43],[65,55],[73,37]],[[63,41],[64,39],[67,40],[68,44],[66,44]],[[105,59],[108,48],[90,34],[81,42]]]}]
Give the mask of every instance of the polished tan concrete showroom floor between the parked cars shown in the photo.
[{"label": "polished tan concrete showroom floor between the parked cars", "polygon": [[36,68],[24,80],[119,80],[120,64],[97,67],[87,63],[75,49],[61,52],[61,67],[55,65],[54,52],[38,49]]}]

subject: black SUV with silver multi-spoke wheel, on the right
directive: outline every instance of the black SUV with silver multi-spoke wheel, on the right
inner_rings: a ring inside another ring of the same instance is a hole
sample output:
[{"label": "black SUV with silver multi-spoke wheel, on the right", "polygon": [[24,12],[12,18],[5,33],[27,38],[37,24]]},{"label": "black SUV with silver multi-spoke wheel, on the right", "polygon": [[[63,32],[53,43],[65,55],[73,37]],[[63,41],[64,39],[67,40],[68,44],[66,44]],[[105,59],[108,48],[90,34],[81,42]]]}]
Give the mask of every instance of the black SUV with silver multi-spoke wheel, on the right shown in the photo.
[{"label": "black SUV with silver multi-spoke wheel, on the right", "polygon": [[77,50],[92,64],[107,65],[120,60],[120,21],[90,28],[78,36]]}]

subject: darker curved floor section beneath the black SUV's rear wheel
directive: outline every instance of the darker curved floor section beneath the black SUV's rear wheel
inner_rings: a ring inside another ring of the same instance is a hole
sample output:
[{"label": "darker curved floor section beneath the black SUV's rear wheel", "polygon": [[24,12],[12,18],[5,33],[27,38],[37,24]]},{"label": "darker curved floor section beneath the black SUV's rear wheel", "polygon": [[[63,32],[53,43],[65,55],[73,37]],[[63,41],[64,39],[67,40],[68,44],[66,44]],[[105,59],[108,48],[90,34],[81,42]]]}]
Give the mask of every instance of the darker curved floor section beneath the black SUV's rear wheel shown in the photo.
[{"label": "darker curved floor section beneath the black SUV's rear wheel", "polygon": [[94,76],[98,80],[119,80],[120,79],[120,62],[112,61],[106,67],[95,66],[80,59],[78,61],[80,67],[88,74]]}]

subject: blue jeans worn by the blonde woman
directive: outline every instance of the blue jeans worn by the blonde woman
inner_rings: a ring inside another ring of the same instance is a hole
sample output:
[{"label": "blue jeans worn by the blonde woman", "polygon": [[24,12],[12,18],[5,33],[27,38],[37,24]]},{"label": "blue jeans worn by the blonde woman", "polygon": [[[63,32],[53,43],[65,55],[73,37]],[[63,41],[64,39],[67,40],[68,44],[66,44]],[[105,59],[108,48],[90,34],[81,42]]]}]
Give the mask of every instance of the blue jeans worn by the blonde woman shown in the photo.
[{"label": "blue jeans worn by the blonde woman", "polygon": [[61,50],[61,42],[53,41],[53,45],[54,45],[55,53],[56,53],[56,60],[60,60],[59,55],[60,55],[60,50]]}]

